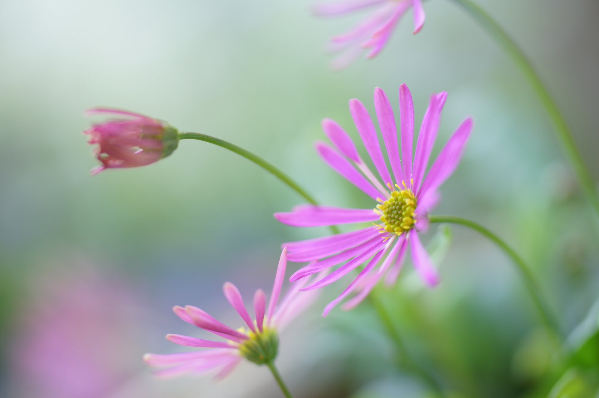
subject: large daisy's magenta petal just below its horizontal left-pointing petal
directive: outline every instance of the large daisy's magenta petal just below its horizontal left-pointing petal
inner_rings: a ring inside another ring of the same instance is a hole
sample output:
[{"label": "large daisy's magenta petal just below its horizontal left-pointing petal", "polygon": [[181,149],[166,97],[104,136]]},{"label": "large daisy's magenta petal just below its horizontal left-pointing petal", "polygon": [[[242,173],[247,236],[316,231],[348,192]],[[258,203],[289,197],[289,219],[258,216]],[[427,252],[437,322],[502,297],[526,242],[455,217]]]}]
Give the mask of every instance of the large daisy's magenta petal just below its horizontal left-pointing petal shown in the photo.
[{"label": "large daisy's magenta petal just below its horizontal left-pointing petal", "polygon": [[[302,256],[304,254],[309,255],[309,253],[311,252],[336,250],[340,244],[343,244],[344,247],[350,247],[355,244],[361,243],[364,240],[367,240],[369,237],[371,237],[371,235],[374,235],[375,232],[376,231],[374,231],[374,228],[372,226],[368,226],[367,228],[358,229],[357,231],[352,232],[345,232],[343,234],[338,235],[301,240],[297,242],[286,242],[282,244],[282,247],[287,247],[287,250],[289,251],[287,259],[289,261],[295,261],[296,258],[298,258],[298,262],[308,261],[299,260],[299,256]],[[297,256],[295,256],[295,254],[297,254]]]}]

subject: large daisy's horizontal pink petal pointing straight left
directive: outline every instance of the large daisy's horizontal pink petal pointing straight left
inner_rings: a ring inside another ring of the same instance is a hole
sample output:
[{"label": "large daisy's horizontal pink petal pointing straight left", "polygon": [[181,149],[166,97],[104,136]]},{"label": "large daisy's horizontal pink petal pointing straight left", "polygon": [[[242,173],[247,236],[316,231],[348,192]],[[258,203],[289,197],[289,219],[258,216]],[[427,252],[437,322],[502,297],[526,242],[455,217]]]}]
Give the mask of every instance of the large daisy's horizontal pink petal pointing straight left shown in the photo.
[{"label": "large daisy's horizontal pink petal pointing straight left", "polygon": [[274,217],[283,224],[292,226],[325,226],[353,224],[356,222],[376,221],[380,216],[370,209],[324,210],[312,206],[311,210],[292,213],[274,213]]}]

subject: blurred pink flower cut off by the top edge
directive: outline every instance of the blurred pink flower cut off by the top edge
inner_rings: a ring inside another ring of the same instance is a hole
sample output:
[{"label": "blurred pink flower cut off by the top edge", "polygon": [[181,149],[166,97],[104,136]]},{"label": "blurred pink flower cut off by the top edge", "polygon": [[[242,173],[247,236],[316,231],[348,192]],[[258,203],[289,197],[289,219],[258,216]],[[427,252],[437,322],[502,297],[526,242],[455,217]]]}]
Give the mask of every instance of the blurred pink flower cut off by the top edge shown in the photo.
[{"label": "blurred pink flower cut off by the top edge", "polygon": [[314,13],[332,17],[352,13],[362,8],[372,11],[364,21],[342,35],[331,39],[331,51],[341,53],[331,63],[332,69],[343,69],[368,51],[368,59],[376,57],[391,38],[401,17],[412,7],[414,34],[420,32],[425,15],[422,0],[338,0],[332,4],[319,4]]}]

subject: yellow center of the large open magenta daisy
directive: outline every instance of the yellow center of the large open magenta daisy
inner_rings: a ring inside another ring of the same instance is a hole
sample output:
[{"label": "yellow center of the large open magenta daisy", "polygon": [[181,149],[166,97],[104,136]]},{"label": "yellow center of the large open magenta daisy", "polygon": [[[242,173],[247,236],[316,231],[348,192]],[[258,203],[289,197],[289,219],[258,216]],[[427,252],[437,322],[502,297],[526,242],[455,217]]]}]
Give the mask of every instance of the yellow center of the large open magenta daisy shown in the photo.
[{"label": "yellow center of the large open magenta daisy", "polygon": [[391,198],[378,204],[377,209],[383,229],[389,233],[401,235],[416,224],[416,196],[411,189],[391,192]]}]

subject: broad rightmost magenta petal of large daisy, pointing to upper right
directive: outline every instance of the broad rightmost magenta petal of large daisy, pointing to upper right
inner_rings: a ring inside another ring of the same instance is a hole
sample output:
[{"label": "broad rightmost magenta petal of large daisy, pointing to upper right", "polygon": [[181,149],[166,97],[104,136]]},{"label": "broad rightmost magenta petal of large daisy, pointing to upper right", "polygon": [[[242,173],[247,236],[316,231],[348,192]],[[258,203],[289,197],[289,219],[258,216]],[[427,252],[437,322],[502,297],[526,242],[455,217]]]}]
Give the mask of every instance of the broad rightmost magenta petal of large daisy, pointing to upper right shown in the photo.
[{"label": "broad rightmost magenta petal of large daisy, pointing to upper right", "polygon": [[472,119],[466,119],[453,133],[452,137],[439,153],[437,160],[432,164],[425,181],[422,183],[419,194],[426,195],[428,191],[436,191],[439,186],[458,167],[464,149],[472,131]]}]

